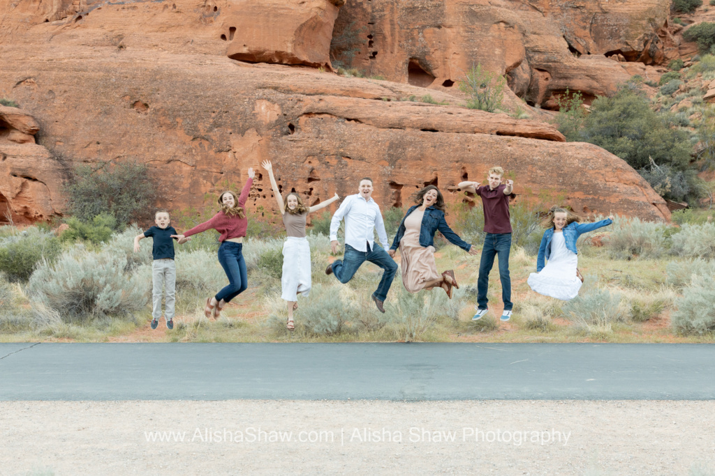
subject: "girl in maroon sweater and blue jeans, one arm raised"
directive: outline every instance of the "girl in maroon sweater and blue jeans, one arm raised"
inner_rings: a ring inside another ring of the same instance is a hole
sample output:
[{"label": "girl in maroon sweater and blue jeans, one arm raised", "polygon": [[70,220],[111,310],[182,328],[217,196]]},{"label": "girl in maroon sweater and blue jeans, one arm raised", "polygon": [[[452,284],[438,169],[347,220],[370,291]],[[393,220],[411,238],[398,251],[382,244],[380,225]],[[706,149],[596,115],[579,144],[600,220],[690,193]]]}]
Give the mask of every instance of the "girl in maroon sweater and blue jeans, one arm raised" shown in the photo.
[{"label": "girl in maroon sweater and blue jeans, one arm raised", "polygon": [[183,235],[172,235],[172,238],[181,240],[187,236],[192,236],[211,228],[221,233],[219,241],[219,263],[226,272],[229,284],[220,290],[215,296],[206,299],[204,314],[207,318],[218,318],[221,315],[226,303],[242,293],[248,287],[248,275],[246,273],[246,262],[243,259],[243,237],[246,236],[248,220],[243,206],[248,199],[248,192],[251,189],[255,173],[252,168],[248,169],[248,181],[241,191],[241,196],[236,197],[232,191],[221,194],[218,199],[221,209],[209,221],[194,226]]}]

